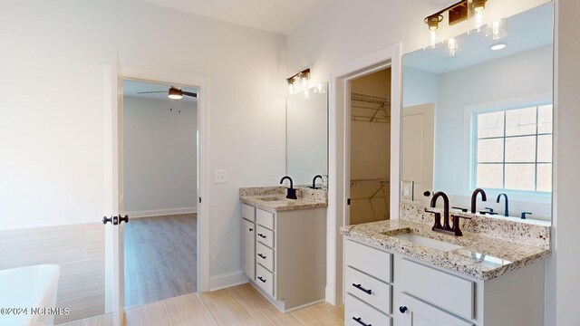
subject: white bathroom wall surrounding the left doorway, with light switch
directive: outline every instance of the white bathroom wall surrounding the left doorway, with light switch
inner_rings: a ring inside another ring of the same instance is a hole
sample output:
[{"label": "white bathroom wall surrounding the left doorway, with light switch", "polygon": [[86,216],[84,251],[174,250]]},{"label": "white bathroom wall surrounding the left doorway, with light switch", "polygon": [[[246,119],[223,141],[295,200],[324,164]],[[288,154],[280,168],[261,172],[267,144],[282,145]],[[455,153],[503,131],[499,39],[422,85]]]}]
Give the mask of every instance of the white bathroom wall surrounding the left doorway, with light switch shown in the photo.
[{"label": "white bathroom wall surrounding the left doorway, with light switch", "polygon": [[[103,63],[208,78],[210,275],[240,270],[238,187],[285,173],[280,35],[137,0],[19,1],[0,10],[0,229],[98,222]],[[202,90],[203,91],[203,90]]]}]

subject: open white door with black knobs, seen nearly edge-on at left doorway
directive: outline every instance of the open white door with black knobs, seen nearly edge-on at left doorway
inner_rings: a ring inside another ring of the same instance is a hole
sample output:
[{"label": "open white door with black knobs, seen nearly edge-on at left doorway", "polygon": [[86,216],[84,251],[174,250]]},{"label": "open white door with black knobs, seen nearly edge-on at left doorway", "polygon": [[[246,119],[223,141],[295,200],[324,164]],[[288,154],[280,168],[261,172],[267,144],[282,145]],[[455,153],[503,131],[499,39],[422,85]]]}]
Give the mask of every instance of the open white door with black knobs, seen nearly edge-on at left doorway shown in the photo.
[{"label": "open white door with black knobs, seen nearly edge-on at left doorway", "polygon": [[124,310],[123,226],[129,222],[123,209],[122,80],[115,57],[105,65],[105,312],[113,314],[113,325],[122,326]]}]

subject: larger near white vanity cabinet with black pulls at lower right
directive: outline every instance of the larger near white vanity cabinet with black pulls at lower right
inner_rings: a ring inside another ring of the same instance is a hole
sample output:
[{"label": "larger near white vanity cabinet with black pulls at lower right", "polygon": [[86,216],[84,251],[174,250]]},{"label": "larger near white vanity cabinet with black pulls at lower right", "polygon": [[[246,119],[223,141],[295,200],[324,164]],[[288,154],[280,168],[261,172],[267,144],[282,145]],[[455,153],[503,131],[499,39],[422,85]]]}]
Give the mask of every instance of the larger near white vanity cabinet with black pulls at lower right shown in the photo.
[{"label": "larger near white vanity cabinet with black pulls at lower right", "polygon": [[344,250],[347,325],[544,325],[543,261],[483,281],[348,239]]}]

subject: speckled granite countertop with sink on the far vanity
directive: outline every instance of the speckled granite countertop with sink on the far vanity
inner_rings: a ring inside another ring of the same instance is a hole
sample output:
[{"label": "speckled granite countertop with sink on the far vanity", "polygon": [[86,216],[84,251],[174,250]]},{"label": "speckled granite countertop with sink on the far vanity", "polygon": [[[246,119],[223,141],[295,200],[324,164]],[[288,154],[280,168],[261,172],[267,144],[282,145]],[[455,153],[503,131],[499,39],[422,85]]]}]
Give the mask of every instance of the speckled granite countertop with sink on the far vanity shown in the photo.
[{"label": "speckled granite countertop with sink on the far vanity", "polygon": [[296,193],[298,199],[287,199],[285,187],[247,187],[240,188],[240,200],[272,213],[328,206],[325,191],[296,187]]}]

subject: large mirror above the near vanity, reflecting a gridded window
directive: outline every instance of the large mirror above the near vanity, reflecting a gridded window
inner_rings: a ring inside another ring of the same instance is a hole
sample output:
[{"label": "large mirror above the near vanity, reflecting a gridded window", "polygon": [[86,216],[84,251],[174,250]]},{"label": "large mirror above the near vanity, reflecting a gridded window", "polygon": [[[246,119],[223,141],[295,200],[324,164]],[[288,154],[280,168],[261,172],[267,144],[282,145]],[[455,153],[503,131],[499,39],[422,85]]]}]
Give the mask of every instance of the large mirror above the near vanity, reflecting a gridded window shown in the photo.
[{"label": "large mirror above the near vanity, reflecting a gridded window", "polygon": [[[553,4],[403,56],[401,203],[551,219]],[[455,46],[450,46],[455,45]]]}]

